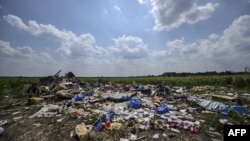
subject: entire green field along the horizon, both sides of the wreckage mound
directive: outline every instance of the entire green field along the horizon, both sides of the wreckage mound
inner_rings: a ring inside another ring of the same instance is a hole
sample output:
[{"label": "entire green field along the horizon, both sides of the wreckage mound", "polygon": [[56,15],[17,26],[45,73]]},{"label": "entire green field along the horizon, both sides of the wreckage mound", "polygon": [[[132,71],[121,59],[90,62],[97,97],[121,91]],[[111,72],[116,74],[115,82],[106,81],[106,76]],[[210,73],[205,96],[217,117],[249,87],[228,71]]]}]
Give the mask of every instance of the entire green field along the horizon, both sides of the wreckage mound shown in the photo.
[{"label": "entire green field along the horizon, both sides of the wreckage mound", "polygon": [[[183,77],[77,77],[81,82],[103,82],[118,84],[164,84],[168,86],[231,86],[234,89],[250,90],[250,75],[214,75],[214,76],[183,76]],[[24,84],[37,83],[39,77],[0,77],[0,94],[4,89],[14,91],[23,88]]]}]

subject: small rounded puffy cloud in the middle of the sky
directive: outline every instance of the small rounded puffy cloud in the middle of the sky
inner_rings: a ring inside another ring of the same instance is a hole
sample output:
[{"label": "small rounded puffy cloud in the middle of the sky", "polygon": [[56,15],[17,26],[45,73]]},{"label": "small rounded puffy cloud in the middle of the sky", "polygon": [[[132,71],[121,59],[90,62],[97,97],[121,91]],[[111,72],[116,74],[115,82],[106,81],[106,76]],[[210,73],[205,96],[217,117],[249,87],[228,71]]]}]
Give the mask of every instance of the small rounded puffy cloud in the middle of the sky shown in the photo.
[{"label": "small rounded puffy cloud in the middle of the sky", "polygon": [[114,46],[109,47],[111,53],[124,59],[138,59],[148,55],[147,45],[139,37],[125,36],[114,38]]}]

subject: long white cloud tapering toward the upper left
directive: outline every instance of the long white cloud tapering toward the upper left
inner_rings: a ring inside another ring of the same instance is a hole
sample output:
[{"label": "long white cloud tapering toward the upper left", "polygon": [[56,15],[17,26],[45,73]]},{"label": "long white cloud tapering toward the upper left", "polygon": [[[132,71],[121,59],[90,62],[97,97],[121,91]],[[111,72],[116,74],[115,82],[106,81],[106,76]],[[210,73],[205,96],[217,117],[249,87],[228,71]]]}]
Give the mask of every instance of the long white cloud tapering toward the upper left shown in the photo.
[{"label": "long white cloud tapering toward the upper left", "polygon": [[75,35],[72,31],[59,30],[53,25],[38,24],[30,20],[26,25],[19,17],[15,15],[4,16],[4,19],[12,26],[23,29],[35,36],[45,36],[61,43],[56,50],[58,53],[66,56],[89,56],[90,54],[105,54],[105,49],[100,49],[95,45],[95,38],[91,34]]}]

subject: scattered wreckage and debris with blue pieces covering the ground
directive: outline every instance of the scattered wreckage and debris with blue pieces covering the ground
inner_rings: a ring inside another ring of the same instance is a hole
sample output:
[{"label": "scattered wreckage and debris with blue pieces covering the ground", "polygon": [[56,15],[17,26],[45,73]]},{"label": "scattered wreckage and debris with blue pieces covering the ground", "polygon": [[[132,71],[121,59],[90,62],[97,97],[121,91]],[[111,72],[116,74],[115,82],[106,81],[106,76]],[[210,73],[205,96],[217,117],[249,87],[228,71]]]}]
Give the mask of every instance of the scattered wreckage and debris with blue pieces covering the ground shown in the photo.
[{"label": "scattered wreckage and debris with blue pieces covering the ground", "polygon": [[[46,119],[53,133],[61,132],[67,140],[223,140],[222,133],[214,128],[235,124],[230,122],[235,113],[242,123],[249,116],[245,105],[233,101],[237,99],[234,95],[224,98],[229,103],[215,101],[223,97],[210,93],[210,86],[185,88],[136,83],[122,86],[102,81],[90,85],[79,81],[72,72],[63,77],[60,72],[25,86],[23,92],[28,96],[25,107],[21,112],[4,111],[6,115],[15,115],[15,121],[8,121],[10,116],[1,116],[0,135],[10,134],[3,128],[5,124],[18,121],[16,124],[25,126],[32,120],[36,122],[33,126],[41,128],[45,126],[42,119]],[[207,117],[214,114],[223,119],[215,119],[214,123],[219,125],[211,127]],[[66,134],[61,131],[65,126],[70,129]],[[37,129],[37,137],[49,134],[46,131],[41,133]],[[14,140],[22,140],[29,132],[16,134]],[[55,138],[59,137],[46,140]]]}]

